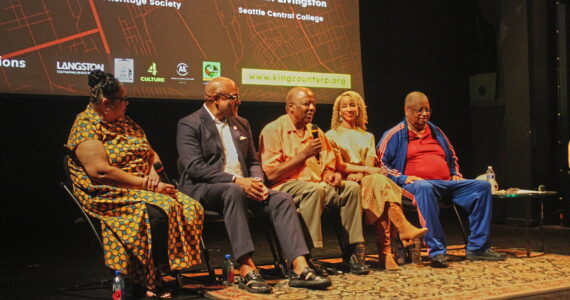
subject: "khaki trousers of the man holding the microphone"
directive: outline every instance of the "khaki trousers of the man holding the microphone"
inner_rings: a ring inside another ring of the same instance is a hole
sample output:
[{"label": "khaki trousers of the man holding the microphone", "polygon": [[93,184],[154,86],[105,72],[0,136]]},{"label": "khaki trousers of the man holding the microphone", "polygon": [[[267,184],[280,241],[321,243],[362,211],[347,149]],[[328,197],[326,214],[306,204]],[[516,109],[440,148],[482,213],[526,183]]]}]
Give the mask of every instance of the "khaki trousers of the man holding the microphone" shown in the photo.
[{"label": "khaki trousers of the man holding the microphone", "polygon": [[362,235],[362,203],[360,186],[351,181],[342,181],[339,187],[324,182],[292,180],[277,190],[289,193],[301,214],[316,248],[323,247],[321,215],[325,206],[338,207],[342,226],[348,236],[348,243],[364,242]]}]

